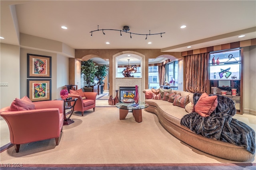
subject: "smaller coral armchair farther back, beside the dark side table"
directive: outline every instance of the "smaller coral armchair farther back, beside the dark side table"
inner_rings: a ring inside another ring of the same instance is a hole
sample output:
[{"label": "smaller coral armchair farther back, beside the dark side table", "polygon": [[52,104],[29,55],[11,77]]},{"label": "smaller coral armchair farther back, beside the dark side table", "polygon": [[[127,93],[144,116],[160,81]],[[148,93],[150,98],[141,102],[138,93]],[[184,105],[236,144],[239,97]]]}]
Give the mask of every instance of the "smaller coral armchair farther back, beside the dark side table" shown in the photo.
[{"label": "smaller coral armchair farther back, beside the dark side table", "polygon": [[96,105],[96,92],[83,92],[86,99],[82,99],[80,95],[76,94],[68,94],[68,97],[72,98],[78,98],[76,101],[76,105],[74,106],[74,111],[81,111],[82,116],[84,115],[84,111],[88,109],[92,109],[95,111],[95,105]]}]

